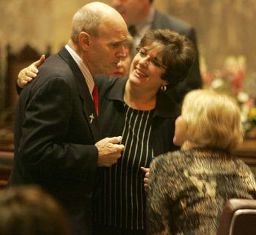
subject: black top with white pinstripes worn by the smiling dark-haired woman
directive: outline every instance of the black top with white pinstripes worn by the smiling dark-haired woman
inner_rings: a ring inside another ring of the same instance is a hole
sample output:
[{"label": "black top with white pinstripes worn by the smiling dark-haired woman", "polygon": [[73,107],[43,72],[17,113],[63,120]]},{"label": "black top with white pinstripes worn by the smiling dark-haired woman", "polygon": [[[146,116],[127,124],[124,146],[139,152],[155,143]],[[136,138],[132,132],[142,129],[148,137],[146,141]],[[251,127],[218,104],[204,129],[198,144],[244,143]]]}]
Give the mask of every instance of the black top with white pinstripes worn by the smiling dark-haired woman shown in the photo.
[{"label": "black top with white pinstripes worn by the smiling dark-haired woman", "polygon": [[145,224],[144,173],[152,159],[150,139],[153,111],[134,110],[125,105],[122,133],[124,153],[118,163],[104,169],[99,187],[96,220],[123,229],[143,229]]}]

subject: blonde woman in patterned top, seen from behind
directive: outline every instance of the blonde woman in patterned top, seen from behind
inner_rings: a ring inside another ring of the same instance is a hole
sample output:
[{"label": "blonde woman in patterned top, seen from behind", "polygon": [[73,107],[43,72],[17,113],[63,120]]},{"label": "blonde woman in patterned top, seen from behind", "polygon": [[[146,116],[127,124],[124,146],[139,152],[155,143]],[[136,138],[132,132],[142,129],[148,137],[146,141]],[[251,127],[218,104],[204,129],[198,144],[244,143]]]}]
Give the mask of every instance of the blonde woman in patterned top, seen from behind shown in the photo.
[{"label": "blonde woman in patterned top, seen from behind", "polygon": [[225,202],[256,197],[250,168],[232,155],[243,141],[237,103],[214,91],[186,95],[175,121],[180,151],[150,165],[148,234],[216,234]]}]

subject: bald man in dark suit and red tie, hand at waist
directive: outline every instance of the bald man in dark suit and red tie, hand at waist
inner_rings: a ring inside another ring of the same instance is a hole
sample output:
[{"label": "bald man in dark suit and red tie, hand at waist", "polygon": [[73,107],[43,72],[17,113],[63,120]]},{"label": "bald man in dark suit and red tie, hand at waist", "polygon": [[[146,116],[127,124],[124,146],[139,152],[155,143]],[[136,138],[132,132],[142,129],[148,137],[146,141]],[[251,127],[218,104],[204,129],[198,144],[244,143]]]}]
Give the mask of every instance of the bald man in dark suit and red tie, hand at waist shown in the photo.
[{"label": "bald man in dark suit and red tie, hand at waist", "polygon": [[86,4],[74,15],[67,45],[19,97],[9,184],[35,183],[51,193],[67,210],[72,234],[90,234],[97,167],[111,166],[124,150],[120,137],[100,140],[92,92],[93,76],[113,73],[125,56],[127,33],[116,10]]}]

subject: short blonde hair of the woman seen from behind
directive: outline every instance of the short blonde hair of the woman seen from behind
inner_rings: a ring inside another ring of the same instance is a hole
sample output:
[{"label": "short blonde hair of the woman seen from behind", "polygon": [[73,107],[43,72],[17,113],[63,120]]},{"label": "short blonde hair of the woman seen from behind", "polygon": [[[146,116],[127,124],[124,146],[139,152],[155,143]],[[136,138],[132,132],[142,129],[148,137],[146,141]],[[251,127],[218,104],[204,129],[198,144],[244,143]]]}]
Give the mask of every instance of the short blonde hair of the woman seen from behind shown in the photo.
[{"label": "short blonde hair of the woman seen from behind", "polygon": [[243,142],[239,106],[227,95],[198,89],[182,105],[186,140],[193,146],[231,151]]}]

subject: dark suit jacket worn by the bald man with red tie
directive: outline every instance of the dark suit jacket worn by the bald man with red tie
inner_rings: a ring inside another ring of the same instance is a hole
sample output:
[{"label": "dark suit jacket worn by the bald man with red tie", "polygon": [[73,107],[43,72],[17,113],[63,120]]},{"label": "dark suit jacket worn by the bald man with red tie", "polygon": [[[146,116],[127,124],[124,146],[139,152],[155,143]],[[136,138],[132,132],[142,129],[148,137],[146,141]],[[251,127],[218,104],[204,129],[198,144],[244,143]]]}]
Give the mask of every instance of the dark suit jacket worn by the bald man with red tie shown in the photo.
[{"label": "dark suit jacket worn by the bald man with red tie", "polygon": [[9,185],[42,186],[67,210],[72,233],[88,234],[98,158],[94,144],[101,137],[88,86],[65,48],[22,90],[14,134]]}]

